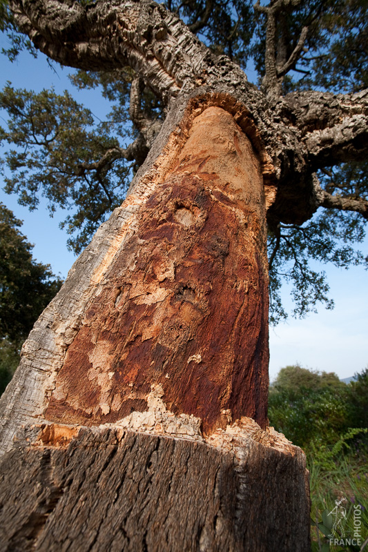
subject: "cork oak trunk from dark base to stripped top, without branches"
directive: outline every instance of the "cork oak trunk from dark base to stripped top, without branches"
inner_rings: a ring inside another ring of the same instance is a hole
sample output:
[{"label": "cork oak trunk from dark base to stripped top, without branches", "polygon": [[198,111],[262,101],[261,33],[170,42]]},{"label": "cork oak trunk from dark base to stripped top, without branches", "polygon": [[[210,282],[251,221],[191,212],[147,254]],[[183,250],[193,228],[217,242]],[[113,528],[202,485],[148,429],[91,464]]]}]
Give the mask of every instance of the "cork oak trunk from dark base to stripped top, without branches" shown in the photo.
[{"label": "cork oak trunk from dark base to stripped top, without branches", "polygon": [[[308,549],[304,455],[260,428],[265,217],[275,197],[263,184],[267,159],[231,97],[193,97],[168,115],[122,208],[41,315],[0,401],[3,451],[15,433],[23,442],[3,460],[4,497],[19,473],[12,466],[26,472],[8,550]],[[32,477],[44,482],[26,500]]]}]

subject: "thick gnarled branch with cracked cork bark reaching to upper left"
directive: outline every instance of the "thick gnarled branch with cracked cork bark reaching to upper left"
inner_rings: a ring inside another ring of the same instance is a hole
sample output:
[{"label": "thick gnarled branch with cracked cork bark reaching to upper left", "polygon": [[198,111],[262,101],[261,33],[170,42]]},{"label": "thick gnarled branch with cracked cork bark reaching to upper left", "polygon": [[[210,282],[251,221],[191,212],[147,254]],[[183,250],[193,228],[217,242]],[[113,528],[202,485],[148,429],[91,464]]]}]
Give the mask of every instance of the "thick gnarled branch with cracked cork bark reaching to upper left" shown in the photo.
[{"label": "thick gnarled branch with cracked cork bark reaching to upper left", "polygon": [[64,65],[111,70],[129,65],[164,100],[195,80],[207,48],[163,6],[111,0],[81,6],[68,0],[11,0],[22,32]]}]

